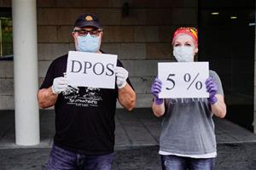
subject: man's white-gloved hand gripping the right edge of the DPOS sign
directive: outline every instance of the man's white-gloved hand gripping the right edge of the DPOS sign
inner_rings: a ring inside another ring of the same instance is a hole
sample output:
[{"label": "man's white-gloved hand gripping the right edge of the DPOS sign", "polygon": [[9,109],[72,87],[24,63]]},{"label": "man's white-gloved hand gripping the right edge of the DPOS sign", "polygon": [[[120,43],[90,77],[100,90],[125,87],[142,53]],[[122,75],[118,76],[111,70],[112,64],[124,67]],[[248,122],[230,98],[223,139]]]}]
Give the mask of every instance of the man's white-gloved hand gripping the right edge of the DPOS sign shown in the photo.
[{"label": "man's white-gloved hand gripping the right edge of the DPOS sign", "polygon": [[116,84],[118,88],[124,88],[127,84],[126,79],[129,72],[126,71],[123,67],[117,66],[115,68]]}]

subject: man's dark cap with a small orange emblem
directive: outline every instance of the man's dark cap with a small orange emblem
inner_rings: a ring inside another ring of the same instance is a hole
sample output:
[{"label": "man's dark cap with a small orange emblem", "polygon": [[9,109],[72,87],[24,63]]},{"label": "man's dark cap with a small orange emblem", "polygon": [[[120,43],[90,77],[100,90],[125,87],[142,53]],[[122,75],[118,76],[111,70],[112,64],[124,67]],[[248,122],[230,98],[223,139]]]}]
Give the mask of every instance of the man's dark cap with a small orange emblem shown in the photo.
[{"label": "man's dark cap with a small orange emblem", "polygon": [[75,27],[84,27],[84,26],[93,26],[96,28],[102,28],[99,19],[96,17],[96,14],[82,14],[76,20]]}]

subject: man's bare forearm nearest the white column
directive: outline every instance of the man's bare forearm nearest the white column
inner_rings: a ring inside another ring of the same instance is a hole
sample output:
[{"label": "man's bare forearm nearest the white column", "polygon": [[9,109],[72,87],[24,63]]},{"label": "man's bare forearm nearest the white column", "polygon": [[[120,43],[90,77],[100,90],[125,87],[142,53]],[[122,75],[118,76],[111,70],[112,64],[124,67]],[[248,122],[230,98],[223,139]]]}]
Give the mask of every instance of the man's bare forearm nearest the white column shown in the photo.
[{"label": "man's bare forearm nearest the white column", "polygon": [[49,88],[43,88],[38,91],[38,105],[41,109],[55,105],[58,95],[54,94]]}]

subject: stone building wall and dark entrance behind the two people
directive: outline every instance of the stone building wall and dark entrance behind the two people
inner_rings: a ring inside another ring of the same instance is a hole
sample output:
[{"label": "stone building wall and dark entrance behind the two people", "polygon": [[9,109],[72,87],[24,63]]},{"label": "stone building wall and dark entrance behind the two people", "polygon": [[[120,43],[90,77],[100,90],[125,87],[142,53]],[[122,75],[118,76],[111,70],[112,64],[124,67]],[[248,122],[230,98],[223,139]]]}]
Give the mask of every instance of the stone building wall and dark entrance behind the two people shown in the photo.
[{"label": "stone building wall and dark entrance behind the two people", "polygon": [[[11,8],[10,0],[0,0],[0,14],[8,16]],[[243,4],[230,0],[38,0],[36,8],[38,85],[53,59],[74,50],[74,21],[80,14],[94,13],[103,26],[102,50],[118,54],[129,71],[137,92],[137,107],[150,107],[150,87],[157,75],[157,63],[174,61],[173,31],[180,26],[195,26],[200,32],[198,60],[210,61],[210,68],[222,79],[230,108],[228,118],[253,129],[254,0]],[[0,60],[0,110],[15,109],[14,92],[14,62]],[[246,118],[241,121],[241,117]]]}]

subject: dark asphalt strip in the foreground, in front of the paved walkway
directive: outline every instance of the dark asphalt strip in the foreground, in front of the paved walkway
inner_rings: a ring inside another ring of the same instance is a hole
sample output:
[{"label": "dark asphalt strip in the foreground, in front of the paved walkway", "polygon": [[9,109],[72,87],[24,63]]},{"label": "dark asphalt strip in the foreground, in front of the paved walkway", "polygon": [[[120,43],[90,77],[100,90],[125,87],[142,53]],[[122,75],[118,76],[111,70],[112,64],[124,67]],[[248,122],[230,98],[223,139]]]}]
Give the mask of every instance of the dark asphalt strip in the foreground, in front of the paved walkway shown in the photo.
[{"label": "dark asphalt strip in the foreground, in front of the paved walkway", "polygon": [[[160,170],[158,146],[116,150],[113,170]],[[218,144],[217,170],[256,169],[256,143]],[[41,170],[49,149],[0,150],[1,170]]]}]

